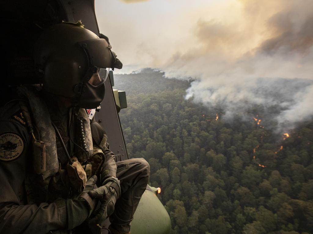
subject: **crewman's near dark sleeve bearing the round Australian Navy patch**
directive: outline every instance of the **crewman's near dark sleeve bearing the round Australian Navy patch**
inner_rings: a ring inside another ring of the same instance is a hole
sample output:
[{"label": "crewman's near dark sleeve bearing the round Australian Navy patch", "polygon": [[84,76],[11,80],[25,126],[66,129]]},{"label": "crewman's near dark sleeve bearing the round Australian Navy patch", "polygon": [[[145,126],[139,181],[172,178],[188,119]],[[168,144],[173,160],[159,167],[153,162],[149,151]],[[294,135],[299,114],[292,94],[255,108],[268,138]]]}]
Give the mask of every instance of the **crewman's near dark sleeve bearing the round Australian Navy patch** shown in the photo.
[{"label": "crewman's near dark sleeve bearing the round Australian Navy patch", "polygon": [[80,225],[89,213],[85,201],[27,204],[24,179],[32,147],[26,128],[20,125],[0,120],[0,233],[40,234]]}]

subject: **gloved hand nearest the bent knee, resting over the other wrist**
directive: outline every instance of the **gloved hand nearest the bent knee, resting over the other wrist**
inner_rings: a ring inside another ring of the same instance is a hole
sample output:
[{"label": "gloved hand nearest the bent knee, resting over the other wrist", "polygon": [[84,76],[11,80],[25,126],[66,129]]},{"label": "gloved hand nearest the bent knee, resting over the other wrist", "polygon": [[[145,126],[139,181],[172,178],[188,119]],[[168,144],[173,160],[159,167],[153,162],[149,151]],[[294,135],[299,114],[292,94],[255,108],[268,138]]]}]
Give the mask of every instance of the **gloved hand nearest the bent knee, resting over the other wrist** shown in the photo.
[{"label": "gloved hand nearest the bent knee, resting over the other wrist", "polygon": [[91,198],[97,198],[101,206],[89,223],[101,226],[101,224],[114,212],[115,202],[121,195],[120,181],[116,177],[105,179],[103,185],[88,192]]}]

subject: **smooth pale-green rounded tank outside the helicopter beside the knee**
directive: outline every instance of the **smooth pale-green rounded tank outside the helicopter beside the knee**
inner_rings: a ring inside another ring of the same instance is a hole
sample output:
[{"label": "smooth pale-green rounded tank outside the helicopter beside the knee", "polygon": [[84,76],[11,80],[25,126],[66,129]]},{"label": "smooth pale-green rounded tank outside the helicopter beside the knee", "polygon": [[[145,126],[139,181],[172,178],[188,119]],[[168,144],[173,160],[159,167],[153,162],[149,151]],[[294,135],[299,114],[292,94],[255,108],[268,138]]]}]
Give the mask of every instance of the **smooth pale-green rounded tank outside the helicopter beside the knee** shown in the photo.
[{"label": "smooth pale-green rounded tank outside the helicopter beside the knee", "polygon": [[147,186],[131,222],[131,233],[169,234],[171,219],[166,209],[156,196],[160,188]]}]

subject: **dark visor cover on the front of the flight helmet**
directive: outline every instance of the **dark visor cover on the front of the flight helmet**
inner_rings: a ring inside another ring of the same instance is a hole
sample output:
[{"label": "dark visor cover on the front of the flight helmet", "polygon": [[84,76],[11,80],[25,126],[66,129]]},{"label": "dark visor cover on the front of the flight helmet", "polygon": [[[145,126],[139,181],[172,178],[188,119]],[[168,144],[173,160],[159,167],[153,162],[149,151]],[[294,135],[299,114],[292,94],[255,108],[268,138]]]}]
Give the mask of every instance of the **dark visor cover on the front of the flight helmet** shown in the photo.
[{"label": "dark visor cover on the front of the flight helmet", "polygon": [[113,68],[112,66],[115,63],[115,57],[105,39],[95,38],[87,41],[80,41],[78,44],[86,51],[90,67]]}]

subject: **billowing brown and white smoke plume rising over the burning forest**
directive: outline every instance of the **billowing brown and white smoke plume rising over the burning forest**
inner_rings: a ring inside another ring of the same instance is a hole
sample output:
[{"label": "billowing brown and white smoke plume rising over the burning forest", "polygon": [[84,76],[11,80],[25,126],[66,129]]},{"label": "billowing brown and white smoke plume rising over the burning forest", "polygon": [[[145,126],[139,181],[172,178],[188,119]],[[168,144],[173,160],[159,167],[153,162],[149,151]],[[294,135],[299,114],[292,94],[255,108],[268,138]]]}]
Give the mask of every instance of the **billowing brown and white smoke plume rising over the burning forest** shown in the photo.
[{"label": "billowing brown and white smoke plume rising over the burning forest", "polygon": [[196,78],[186,98],[223,107],[225,118],[262,106],[275,114],[278,131],[312,119],[313,17],[308,8],[313,1],[240,2],[236,22],[198,20],[198,46],[172,56],[163,66],[166,75]]}]

